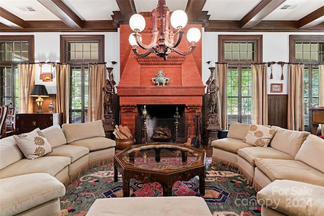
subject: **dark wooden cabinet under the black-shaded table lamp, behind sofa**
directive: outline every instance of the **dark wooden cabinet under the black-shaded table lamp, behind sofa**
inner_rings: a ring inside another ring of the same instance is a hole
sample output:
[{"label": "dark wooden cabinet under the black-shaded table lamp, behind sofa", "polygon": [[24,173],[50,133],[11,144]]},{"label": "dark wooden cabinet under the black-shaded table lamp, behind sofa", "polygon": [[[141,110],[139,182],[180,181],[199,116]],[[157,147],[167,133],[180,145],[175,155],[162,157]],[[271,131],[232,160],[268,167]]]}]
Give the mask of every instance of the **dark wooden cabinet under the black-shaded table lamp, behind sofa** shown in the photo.
[{"label": "dark wooden cabinet under the black-shaded table lamp, behind sofa", "polygon": [[44,129],[63,123],[63,113],[18,113],[16,114],[16,134],[28,133],[39,127]]}]

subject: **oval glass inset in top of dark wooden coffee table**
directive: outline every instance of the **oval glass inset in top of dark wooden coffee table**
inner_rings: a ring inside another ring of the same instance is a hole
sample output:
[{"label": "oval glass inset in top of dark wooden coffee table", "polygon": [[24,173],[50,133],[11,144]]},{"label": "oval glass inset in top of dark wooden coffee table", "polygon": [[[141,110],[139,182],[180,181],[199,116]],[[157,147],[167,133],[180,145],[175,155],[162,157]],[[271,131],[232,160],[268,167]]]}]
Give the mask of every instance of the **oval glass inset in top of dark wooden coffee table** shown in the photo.
[{"label": "oval glass inset in top of dark wooden coffee table", "polygon": [[200,155],[185,146],[154,144],[131,148],[125,152],[123,160],[137,168],[164,170],[188,167],[198,162]]}]

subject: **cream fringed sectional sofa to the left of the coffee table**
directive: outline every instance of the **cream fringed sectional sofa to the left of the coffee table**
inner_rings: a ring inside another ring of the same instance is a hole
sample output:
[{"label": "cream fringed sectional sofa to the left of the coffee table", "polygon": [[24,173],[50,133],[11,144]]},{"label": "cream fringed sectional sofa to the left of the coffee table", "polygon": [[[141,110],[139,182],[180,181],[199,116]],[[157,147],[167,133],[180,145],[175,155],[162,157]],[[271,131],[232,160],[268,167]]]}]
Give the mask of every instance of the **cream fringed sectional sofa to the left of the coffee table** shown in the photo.
[{"label": "cream fringed sectional sofa to the left of the coffee table", "polygon": [[[24,153],[20,149],[21,140],[19,146],[16,142],[19,138],[28,137],[25,135],[29,133],[0,140],[0,215],[36,215],[38,211],[44,209],[52,209],[51,215],[55,215],[55,212],[60,214],[59,197],[62,193],[65,194],[64,185],[75,181],[89,168],[113,162],[115,141],[105,138],[101,120],[82,124],[63,124],[62,128],[53,125],[41,132],[51,145],[52,151],[34,159],[26,158],[25,149]],[[43,192],[44,197],[53,194],[50,186],[28,184],[28,179],[35,178],[37,182],[47,181],[52,188],[61,191],[54,193],[56,197],[50,196],[51,200],[44,199],[41,203],[34,202],[34,197],[39,194],[26,195],[25,201],[29,200],[29,204],[21,202],[20,199],[17,199],[16,203],[13,203],[14,199],[5,202],[12,196],[21,196],[20,190],[4,193],[8,184],[13,181],[17,186],[33,187],[35,191]],[[47,202],[50,203],[46,204]]]}]

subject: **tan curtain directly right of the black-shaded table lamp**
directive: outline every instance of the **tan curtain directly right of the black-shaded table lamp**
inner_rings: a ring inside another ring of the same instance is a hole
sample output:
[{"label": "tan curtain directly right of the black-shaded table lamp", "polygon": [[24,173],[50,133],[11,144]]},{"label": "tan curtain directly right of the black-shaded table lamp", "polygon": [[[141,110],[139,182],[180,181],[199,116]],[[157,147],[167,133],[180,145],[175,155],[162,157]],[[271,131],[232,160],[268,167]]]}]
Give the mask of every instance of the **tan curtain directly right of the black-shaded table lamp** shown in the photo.
[{"label": "tan curtain directly right of the black-shaded table lamp", "polygon": [[55,64],[56,112],[63,113],[63,123],[69,119],[70,65]]}]

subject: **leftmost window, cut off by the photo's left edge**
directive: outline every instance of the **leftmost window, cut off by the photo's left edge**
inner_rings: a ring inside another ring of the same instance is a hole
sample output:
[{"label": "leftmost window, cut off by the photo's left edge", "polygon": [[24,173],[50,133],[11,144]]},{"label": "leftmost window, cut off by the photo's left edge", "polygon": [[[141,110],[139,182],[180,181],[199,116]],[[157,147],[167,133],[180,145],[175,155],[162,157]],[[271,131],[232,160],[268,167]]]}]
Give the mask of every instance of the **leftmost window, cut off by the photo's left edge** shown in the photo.
[{"label": "leftmost window, cut off by the photo's left edge", "polygon": [[18,109],[17,64],[34,61],[34,36],[1,36],[0,47],[0,105]]}]

